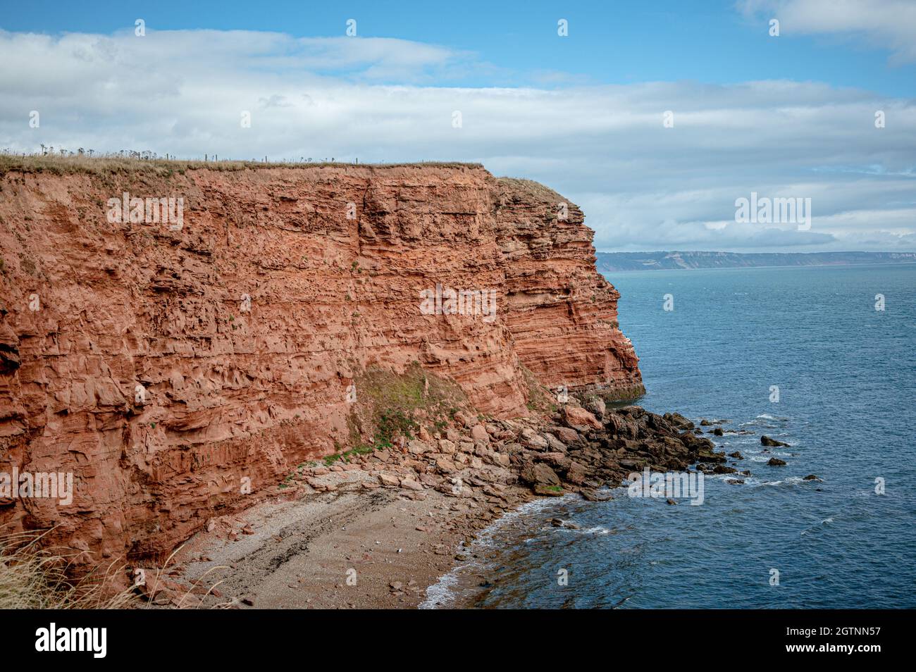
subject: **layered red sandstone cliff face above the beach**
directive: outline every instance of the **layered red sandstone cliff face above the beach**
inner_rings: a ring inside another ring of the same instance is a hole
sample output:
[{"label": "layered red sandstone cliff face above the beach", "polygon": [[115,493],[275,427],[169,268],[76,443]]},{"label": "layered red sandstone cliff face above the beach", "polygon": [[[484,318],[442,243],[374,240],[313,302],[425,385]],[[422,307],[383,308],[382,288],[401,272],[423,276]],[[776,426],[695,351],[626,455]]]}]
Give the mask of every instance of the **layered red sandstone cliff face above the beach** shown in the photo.
[{"label": "layered red sandstone cliff face above the beach", "polygon": [[[0,186],[0,472],[71,472],[74,491],[0,492],[0,523],[58,526],[82,561],[168,550],[246,479],[345,445],[369,368],[419,362],[495,417],[528,413],[536,383],[641,388],[582,212],[558,218],[532,182],[158,167]],[[125,192],[182,199],[180,221],[119,218]],[[449,288],[463,310],[441,314]]]}]

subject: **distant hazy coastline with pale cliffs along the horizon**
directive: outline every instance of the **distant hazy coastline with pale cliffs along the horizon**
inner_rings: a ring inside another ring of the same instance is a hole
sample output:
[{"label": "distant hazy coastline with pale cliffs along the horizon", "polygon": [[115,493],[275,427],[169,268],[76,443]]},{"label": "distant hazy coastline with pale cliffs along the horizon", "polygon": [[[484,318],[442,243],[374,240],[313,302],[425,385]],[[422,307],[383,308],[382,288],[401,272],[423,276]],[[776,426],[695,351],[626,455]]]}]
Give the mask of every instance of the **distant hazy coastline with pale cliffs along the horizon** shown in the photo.
[{"label": "distant hazy coastline with pale cliffs along the horizon", "polygon": [[598,252],[599,273],[765,266],[916,264],[916,252]]}]

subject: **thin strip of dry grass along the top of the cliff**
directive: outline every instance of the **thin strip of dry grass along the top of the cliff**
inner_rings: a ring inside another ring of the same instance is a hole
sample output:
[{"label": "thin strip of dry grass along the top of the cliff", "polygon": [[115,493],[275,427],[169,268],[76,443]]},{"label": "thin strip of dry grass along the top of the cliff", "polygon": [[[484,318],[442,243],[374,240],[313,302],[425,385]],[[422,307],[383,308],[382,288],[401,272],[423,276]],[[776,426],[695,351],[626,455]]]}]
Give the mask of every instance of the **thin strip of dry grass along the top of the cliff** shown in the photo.
[{"label": "thin strip of dry grass along the top of the cliff", "polygon": [[51,175],[111,175],[118,173],[146,173],[151,176],[169,177],[186,170],[263,170],[269,168],[483,168],[479,163],[447,161],[418,161],[414,163],[343,163],[308,161],[219,161],[184,160],[171,158],[137,158],[102,156],[89,157],[74,155],[5,154],[0,153],[0,177],[8,172],[49,173]]}]

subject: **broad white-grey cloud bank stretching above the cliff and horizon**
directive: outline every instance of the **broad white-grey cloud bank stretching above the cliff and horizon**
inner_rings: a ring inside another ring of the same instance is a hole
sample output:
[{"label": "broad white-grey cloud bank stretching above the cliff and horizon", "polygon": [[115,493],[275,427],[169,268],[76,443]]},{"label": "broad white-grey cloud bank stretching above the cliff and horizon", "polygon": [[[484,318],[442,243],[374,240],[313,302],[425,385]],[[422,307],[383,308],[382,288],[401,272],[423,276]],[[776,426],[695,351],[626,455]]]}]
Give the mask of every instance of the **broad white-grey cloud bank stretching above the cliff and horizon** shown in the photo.
[{"label": "broad white-grey cloud bank stretching above the cliff and horizon", "polygon": [[[0,148],[479,161],[579,203],[599,248],[916,249],[911,99],[791,81],[433,87],[488,66],[404,40],[245,31],[0,31],[0,62]],[[751,191],[811,198],[811,231],[737,224]]]}]

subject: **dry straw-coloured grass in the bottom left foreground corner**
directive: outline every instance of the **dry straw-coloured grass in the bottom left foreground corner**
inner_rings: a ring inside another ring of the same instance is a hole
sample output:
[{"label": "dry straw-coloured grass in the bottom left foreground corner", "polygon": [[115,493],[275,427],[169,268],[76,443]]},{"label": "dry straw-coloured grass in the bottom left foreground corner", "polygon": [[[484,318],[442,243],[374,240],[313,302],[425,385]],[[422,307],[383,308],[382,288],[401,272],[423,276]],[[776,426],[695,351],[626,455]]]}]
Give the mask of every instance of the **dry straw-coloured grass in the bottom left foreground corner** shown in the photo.
[{"label": "dry straw-coloured grass in the bottom left foreground corner", "polygon": [[34,532],[0,535],[0,609],[121,609],[136,598],[103,576],[71,580],[72,549],[41,547]]}]

